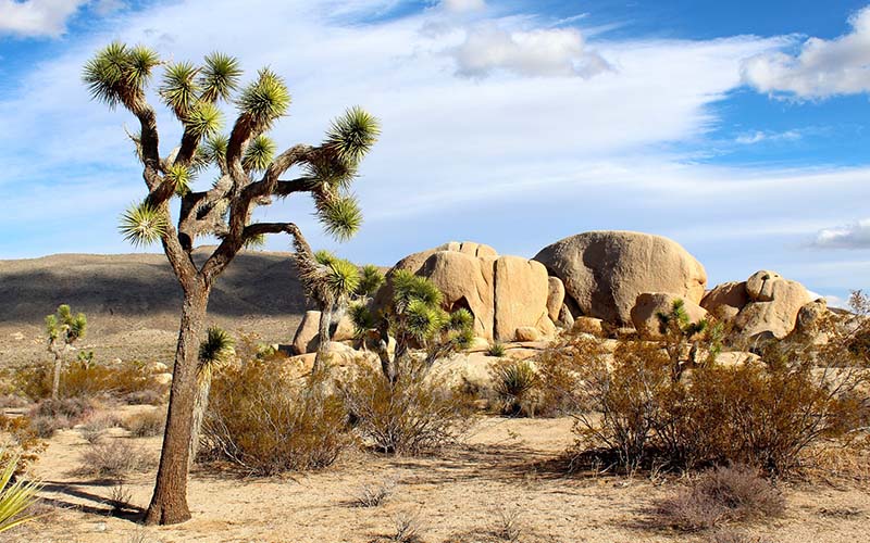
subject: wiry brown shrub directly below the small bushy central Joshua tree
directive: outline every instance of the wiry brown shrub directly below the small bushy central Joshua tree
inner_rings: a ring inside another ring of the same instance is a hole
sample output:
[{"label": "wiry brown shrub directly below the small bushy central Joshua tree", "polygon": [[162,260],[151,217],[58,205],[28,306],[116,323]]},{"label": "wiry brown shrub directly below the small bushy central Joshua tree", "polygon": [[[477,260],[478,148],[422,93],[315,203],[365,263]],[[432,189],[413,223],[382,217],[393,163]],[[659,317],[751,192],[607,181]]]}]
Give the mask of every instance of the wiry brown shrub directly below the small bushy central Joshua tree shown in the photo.
[{"label": "wiry brown shrub directly below the small bushy central Joshua tree", "polygon": [[357,431],[375,450],[396,455],[455,443],[470,424],[468,397],[447,386],[446,377],[428,375],[427,366],[403,365],[395,382],[360,365],[356,379],[343,387]]}]

